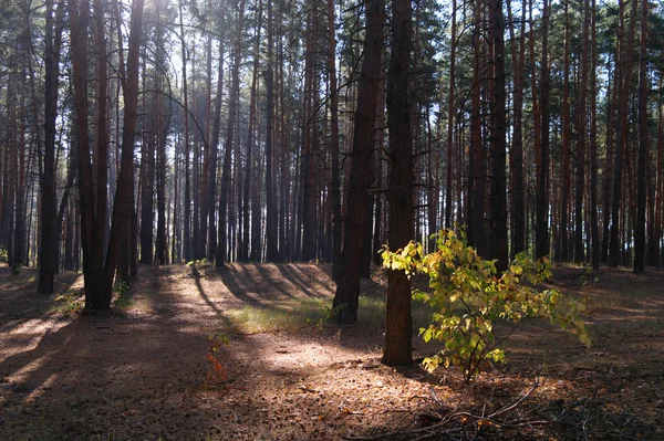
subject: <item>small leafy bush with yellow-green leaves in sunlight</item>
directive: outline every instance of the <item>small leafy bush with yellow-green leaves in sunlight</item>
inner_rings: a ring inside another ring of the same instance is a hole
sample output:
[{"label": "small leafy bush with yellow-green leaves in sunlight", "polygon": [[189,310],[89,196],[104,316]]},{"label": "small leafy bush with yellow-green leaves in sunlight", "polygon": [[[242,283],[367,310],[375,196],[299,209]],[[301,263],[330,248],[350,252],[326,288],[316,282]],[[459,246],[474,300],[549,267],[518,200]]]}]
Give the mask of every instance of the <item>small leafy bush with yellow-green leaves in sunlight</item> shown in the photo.
[{"label": "small leafy bush with yellow-green leaves in sunlight", "polygon": [[[515,327],[526,317],[549,319],[562,329],[579,335],[590,347],[591,340],[580,317],[584,304],[563,296],[557,290],[537,290],[551,276],[548,259],[532,261],[527,253],[516,256],[509,269],[497,276],[495,261],[486,261],[468,246],[465,233],[442,230],[436,235],[437,251],[423,255],[421,243],[382,253],[383,265],[403,270],[408,276],[424,273],[430,292],[414,290],[416,300],[433,309],[433,323],[421,328],[425,342],[445,343],[445,349],[425,358],[424,366],[435,370],[440,364],[457,366],[469,381],[488,361],[504,363],[505,353],[496,342],[496,322]],[[511,333],[510,333],[511,334]]]}]

